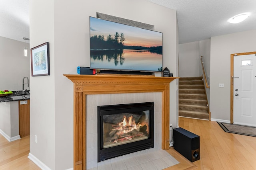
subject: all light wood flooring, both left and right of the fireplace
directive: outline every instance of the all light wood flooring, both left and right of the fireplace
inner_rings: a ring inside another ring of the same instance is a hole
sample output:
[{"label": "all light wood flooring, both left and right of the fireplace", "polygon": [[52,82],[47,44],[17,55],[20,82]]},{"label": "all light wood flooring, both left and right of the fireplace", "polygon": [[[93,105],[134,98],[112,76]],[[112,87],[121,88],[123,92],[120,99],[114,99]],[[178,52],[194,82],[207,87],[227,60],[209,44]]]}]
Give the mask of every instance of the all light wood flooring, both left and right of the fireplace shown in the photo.
[{"label": "all light wood flooring, both left and right of the fireplace", "polygon": [[[180,164],[166,170],[256,170],[256,137],[226,133],[215,121],[180,117],[179,127],[200,136],[200,160],[191,163],[170,148]],[[29,136],[9,143],[0,135],[0,170],[40,170],[28,153]]]}]

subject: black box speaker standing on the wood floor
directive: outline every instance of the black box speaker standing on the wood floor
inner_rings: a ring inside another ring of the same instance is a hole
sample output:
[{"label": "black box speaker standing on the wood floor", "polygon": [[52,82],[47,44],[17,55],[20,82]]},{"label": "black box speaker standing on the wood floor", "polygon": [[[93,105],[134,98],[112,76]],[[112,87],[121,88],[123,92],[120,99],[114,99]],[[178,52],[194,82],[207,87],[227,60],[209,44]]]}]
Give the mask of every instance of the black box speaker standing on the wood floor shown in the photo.
[{"label": "black box speaker standing on the wood floor", "polygon": [[200,137],[181,127],[173,129],[173,147],[191,162],[200,159]]}]

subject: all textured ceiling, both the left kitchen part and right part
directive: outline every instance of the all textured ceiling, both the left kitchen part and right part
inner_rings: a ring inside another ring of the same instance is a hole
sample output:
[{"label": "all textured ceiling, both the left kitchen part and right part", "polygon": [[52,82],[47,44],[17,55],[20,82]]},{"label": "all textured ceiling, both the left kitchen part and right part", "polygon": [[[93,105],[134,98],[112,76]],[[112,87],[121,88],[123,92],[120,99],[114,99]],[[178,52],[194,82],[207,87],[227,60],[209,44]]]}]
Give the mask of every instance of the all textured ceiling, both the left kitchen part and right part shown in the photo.
[{"label": "all textured ceiling, both the left kitchen part and right part", "polygon": [[[256,0],[146,0],[177,11],[179,43],[256,29]],[[0,0],[0,36],[24,41],[29,38],[29,0]],[[250,12],[238,24],[232,16]],[[168,20],[168,17],[163,18]]]}]

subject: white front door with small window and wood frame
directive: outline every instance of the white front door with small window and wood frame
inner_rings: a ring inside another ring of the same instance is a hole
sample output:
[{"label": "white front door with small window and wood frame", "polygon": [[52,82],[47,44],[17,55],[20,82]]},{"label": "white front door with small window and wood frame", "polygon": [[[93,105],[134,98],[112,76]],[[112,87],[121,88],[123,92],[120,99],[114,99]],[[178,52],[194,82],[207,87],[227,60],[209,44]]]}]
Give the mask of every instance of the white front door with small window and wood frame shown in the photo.
[{"label": "white front door with small window and wood frame", "polygon": [[234,124],[256,126],[255,54],[234,56],[233,80]]}]

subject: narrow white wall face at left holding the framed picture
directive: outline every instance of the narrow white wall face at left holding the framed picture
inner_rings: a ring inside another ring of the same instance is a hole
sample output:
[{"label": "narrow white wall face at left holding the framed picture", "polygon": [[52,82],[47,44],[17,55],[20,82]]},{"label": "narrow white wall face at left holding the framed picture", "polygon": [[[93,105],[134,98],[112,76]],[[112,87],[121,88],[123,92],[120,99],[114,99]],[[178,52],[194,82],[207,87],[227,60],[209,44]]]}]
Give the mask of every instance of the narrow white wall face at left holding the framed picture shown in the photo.
[{"label": "narrow white wall face at left holding the framed picture", "polygon": [[[36,47],[45,42],[49,42],[50,46],[50,76],[30,76],[30,154],[54,170],[55,96],[58,95],[54,86],[54,1],[30,0],[29,8],[30,47]],[[34,135],[37,135],[37,143],[34,142]],[[68,136],[72,138],[70,134]],[[59,145],[63,143],[66,145],[65,141],[60,142]],[[63,164],[65,162],[67,161],[63,160]]]}]

